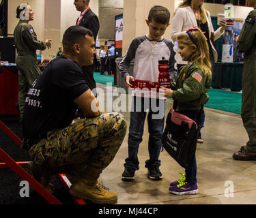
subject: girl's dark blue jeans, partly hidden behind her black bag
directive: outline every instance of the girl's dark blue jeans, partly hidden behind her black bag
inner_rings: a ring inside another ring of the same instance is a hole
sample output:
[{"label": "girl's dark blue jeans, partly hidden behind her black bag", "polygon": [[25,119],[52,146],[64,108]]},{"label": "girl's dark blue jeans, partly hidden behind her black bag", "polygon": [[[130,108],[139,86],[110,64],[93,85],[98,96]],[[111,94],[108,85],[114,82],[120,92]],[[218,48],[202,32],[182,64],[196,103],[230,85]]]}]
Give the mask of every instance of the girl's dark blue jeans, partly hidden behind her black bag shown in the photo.
[{"label": "girl's dark blue jeans, partly hidden behind her black bag", "polygon": [[[198,134],[201,129],[201,127],[199,127],[202,122],[201,116],[203,116],[203,121],[204,121],[204,117],[205,117],[203,109],[201,109],[201,110],[184,110],[184,111],[179,111],[179,113],[188,116],[190,119],[193,119],[193,121],[195,121],[197,123],[197,126],[198,126],[197,134]],[[196,159],[196,157],[194,158],[192,166],[185,169],[185,174],[186,174],[186,181],[190,185],[195,185],[195,183],[197,182],[197,159]]]}]

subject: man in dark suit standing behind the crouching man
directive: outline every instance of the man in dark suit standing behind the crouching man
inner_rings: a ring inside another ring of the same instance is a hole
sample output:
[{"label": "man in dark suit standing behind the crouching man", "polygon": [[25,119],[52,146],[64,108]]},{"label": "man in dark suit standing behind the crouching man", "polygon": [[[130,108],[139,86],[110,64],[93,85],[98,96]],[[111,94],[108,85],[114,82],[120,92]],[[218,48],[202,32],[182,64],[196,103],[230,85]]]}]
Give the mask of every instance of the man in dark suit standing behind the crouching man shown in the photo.
[{"label": "man in dark suit standing behind the crouching man", "polygon": [[[98,35],[98,31],[100,29],[100,22],[98,20],[98,16],[91,11],[89,7],[90,0],[74,0],[74,5],[76,10],[81,12],[79,18],[76,20],[76,26],[85,27],[94,34],[94,40],[96,41],[96,37]],[[97,61],[96,55],[94,56],[94,61]],[[83,66],[83,72],[87,78],[87,84],[91,91],[96,88],[96,82],[94,80],[94,65]],[[94,95],[96,95],[96,91],[93,91]]]}]

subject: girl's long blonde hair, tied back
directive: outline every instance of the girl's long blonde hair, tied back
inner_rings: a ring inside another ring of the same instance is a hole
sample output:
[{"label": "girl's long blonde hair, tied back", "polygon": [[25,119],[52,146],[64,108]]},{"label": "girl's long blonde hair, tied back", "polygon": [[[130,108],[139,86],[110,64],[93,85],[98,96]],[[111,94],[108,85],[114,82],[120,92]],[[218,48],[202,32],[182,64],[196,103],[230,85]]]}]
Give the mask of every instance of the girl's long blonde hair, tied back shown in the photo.
[{"label": "girl's long blonde hair, tied back", "polygon": [[[190,34],[190,35],[189,35]],[[207,39],[199,28],[191,28],[186,32],[177,36],[177,42],[181,42],[188,46],[197,46],[195,52],[192,53],[190,61],[204,69],[204,72],[210,72],[212,75],[212,64],[209,56],[209,46]]]}]

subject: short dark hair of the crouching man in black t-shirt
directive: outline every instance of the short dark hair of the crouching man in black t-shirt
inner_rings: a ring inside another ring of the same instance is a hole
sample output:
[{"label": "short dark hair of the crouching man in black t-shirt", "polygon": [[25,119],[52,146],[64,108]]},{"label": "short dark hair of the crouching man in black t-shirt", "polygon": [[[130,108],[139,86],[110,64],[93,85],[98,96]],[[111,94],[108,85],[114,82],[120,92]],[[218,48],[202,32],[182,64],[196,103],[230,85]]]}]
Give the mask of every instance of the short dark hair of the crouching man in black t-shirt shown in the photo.
[{"label": "short dark hair of the crouching man in black t-shirt", "polygon": [[85,36],[89,35],[91,37],[94,34],[87,28],[81,26],[71,26],[63,34],[63,50],[64,52],[70,52],[74,44],[83,45],[85,42]]}]

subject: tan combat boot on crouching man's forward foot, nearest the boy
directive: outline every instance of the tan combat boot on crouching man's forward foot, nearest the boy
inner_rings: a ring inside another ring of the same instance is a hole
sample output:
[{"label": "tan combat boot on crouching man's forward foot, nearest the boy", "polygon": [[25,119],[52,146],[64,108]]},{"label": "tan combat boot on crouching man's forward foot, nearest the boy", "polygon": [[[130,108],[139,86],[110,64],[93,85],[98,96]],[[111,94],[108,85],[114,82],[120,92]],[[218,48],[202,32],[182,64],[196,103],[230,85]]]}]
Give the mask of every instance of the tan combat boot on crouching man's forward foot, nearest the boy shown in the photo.
[{"label": "tan combat boot on crouching man's forward foot, nearest the boy", "polygon": [[79,179],[70,188],[70,194],[76,198],[90,200],[96,204],[115,204],[117,202],[117,194],[108,191],[97,182],[92,183],[86,179]]}]

